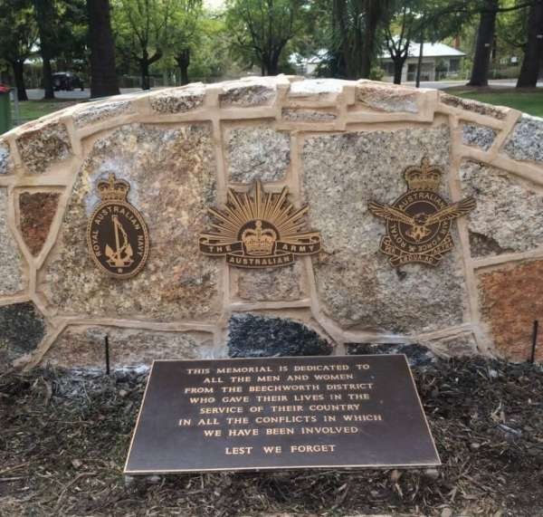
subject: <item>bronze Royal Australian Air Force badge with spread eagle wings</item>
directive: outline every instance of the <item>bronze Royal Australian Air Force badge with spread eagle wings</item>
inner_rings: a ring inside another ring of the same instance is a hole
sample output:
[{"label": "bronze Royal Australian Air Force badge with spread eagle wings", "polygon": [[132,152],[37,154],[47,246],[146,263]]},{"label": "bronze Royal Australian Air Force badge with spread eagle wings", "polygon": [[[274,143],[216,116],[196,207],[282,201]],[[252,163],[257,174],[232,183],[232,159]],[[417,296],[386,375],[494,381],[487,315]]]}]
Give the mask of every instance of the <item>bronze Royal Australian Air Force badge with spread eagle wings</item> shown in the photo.
[{"label": "bronze Royal Australian Air Force badge with spread eagle wings", "polygon": [[386,219],[386,235],[380,248],[390,256],[391,265],[437,265],[443,254],[452,250],[452,220],[471,212],[475,200],[467,197],[449,204],[438,194],[442,174],[441,168],[423,158],[420,167],[405,168],[407,192],[392,205],[369,202],[369,211]]}]

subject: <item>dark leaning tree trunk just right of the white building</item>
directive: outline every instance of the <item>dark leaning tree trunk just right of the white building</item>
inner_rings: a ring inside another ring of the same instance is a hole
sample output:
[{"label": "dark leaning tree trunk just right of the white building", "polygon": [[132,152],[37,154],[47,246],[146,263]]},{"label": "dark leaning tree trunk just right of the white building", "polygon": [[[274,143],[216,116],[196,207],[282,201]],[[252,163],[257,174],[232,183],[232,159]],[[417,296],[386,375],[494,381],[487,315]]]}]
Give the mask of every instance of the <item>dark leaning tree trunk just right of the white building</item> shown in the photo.
[{"label": "dark leaning tree trunk just right of the white building", "polygon": [[489,84],[489,65],[498,7],[499,0],[486,0],[484,3],[485,11],[481,13],[477,32],[472,79],[468,82],[468,86],[488,86]]}]

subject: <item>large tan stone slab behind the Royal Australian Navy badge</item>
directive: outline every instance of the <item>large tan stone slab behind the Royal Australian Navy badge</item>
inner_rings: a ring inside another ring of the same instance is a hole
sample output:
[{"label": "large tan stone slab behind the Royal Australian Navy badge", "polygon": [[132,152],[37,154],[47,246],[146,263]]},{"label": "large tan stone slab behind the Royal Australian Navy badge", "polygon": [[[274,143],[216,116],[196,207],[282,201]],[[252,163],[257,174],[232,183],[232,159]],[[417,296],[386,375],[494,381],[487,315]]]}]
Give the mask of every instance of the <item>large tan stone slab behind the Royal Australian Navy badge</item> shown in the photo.
[{"label": "large tan stone slab behind the Royal Australian Navy badge", "polygon": [[[81,168],[62,235],[46,268],[43,291],[62,313],[138,317],[156,321],[202,319],[218,311],[219,261],[198,251],[198,234],[215,204],[215,170],[208,124],[167,129],[123,126],[95,142]],[[98,203],[97,181],[115,172],[129,181],[129,202],[148,225],[148,263],[119,281],[92,263],[85,239]]]}]

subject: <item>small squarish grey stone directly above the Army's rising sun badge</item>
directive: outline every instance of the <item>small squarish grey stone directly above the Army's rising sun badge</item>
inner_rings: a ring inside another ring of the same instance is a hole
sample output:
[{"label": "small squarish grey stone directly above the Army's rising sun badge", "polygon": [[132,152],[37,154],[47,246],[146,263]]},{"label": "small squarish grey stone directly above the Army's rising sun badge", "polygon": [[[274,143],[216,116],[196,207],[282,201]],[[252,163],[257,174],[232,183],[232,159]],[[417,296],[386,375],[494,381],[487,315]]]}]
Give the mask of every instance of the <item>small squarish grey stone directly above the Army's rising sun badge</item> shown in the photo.
[{"label": "small squarish grey stone directly above the Army's rising sun badge", "polygon": [[288,133],[265,126],[227,129],[224,135],[230,181],[251,183],[254,179],[283,179],[291,163]]}]

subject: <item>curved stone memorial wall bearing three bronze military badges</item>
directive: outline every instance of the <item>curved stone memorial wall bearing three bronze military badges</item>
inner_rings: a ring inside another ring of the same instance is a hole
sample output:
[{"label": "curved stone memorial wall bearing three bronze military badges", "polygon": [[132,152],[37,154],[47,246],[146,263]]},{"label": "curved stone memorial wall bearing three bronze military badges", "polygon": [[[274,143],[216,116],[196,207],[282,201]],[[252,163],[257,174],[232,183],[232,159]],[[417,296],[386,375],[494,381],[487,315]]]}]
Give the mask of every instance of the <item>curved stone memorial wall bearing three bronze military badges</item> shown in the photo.
[{"label": "curved stone memorial wall bearing three bronze military badges", "polygon": [[[105,336],[113,368],[378,344],[528,359],[543,304],[542,135],[543,120],[440,91],[290,76],[24,124],[0,138],[1,368],[102,369]],[[401,201],[406,168],[440,171],[417,213]],[[257,185],[303,216],[224,223],[223,244],[254,269],[203,253],[214,215]],[[383,244],[393,231],[399,247]]]}]

